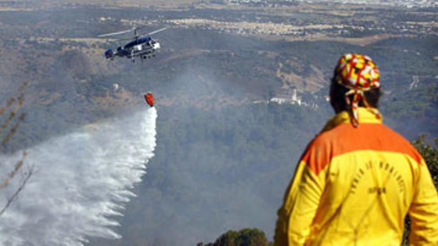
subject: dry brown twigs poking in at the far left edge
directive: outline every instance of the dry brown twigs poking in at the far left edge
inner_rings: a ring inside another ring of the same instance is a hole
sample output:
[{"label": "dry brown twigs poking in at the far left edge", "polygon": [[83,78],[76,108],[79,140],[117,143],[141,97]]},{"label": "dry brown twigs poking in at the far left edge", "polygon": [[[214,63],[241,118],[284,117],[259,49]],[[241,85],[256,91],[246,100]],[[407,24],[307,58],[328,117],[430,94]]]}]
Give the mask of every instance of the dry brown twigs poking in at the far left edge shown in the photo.
[{"label": "dry brown twigs poking in at the far left edge", "polygon": [[[24,120],[25,113],[19,113],[19,111],[23,106],[23,90],[26,86],[27,82],[23,83],[17,89],[17,94],[10,96],[6,100],[6,102],[0,105],[0,153],[4,152],[4,147],[6,143],[10,141],[12,136],[16,133],[21,122]],[[10,181],[12,179],[17,178],[17,174],[20,173],[20,171],[23,169],[22,167],[25,157],[26,152],[23,151],[20,160],[18,160],[15,164],[5,166],[5,164],[0,163],[0,165],[3,166],[3,170],[7,170],[6,172],[4,172],[4,176],[0,176],[0,191],[4,190],[10,184]],[[15,190],[12,193],[9,193],[9,196],[6,197],[4,204],[0,204],[0,217],[24,188],[24,185],[29,180],[32,173],[32,167],[29,167],[26,171],[23,172],[24,175],[21,175],[21,180],[19,181],[18,186],[16,186]]]}]

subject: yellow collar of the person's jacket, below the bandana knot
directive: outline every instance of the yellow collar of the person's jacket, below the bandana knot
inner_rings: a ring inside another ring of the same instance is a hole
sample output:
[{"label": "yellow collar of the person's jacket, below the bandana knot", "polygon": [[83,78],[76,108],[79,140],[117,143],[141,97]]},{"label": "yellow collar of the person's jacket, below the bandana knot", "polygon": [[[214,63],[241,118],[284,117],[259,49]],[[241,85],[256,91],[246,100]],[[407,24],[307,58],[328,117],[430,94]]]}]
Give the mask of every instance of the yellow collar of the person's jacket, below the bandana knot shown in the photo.
[{"label": "yellow collar of the person's jacket, below the bandana knot", "polygon": [[[357,108],[358,115],[359,115],[359,125],[361,123],[374,123],[374,124],[382,124],[383,119],[378,118],[371,110],[376,110],[375,108],[365,108],[365,107],[359,107]],[[349,112],[344,110],[336,115],[334,115],[324,126],[323,130],[321,132],[329,131],[333,129],[334,127],[340,125],[340,124],[351,124],[350,122],[350,115]]]}]

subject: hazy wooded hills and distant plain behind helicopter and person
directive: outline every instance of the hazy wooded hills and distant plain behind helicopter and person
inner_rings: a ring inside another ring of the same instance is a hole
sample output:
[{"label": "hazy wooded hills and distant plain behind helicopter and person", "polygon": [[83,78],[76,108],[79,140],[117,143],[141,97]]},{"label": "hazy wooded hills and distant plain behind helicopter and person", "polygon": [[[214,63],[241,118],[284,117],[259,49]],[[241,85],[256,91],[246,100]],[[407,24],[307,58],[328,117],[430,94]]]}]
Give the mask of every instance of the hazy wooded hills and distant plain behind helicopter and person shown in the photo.
[{"label": "hazy wooded hills and distant plain behind helicopter and person", "polygon": [[[123,238],[89,245],[194,245],[244,227],[272,237],[295,162],[332,114],[328,85],[343,53],[379,65],[385,123],[409,139],[438,136],[435,8],[41,2],[0,0],[0,98],[30,82],[6,151],[138,111],[148,90],[157,101],[155,157],[118,218]],[[105,60],[125,41],[97,35],[133,25],[168,27],[154,36],[161,52]],[[307,103],[288,103],[295,92]]]}]

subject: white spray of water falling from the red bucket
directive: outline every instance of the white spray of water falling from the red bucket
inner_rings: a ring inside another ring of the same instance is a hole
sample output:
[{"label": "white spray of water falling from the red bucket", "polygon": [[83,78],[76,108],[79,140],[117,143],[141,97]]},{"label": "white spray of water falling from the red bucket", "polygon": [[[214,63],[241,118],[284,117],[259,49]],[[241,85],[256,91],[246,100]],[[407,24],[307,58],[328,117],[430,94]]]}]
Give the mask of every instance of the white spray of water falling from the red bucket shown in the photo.
[{"label": "white spray of water falling from the red bucket", "polygon": [[[80,246],[87,236],[119,238],[114,216],[153,157],[156,117],[150,108],[27,150],[25,164],[35,173],[0,217],[0,245]],[[20,157],[1,156],[1,176]],[[14,178],[2,191],[1,206],[18,183]]]}]

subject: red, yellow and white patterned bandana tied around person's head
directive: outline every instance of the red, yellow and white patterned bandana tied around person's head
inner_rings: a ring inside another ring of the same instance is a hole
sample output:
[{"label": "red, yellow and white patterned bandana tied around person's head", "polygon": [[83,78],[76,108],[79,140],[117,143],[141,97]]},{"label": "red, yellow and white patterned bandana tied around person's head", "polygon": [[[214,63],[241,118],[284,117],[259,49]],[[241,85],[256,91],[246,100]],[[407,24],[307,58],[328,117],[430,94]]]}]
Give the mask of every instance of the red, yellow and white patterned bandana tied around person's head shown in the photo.
[{"label": "red, yellow and white patterned bandana tied around person's head", "polygon": [[[379,70],[373,60],[365,55],[345,54],[337,63],[335,69],[335,82],[349,88],[345,93],[345,101],[351,108],[351,123],[354,127],[359,125],[357,108],[360,100],[365,107],[381,118],[379,111],[369,106],[363,92],[380,87]],[[353,95],[353,100],[350,100]]]}]

